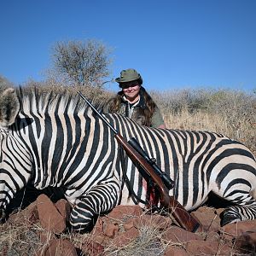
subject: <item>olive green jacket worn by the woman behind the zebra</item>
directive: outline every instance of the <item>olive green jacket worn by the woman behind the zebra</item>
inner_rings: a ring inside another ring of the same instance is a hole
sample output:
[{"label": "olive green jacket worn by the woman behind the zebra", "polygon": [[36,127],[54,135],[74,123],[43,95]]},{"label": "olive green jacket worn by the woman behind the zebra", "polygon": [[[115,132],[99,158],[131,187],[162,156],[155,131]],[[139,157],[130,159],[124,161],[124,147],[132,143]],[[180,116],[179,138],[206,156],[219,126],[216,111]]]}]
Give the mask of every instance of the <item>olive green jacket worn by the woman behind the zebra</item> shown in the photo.
[{"label": "olive green jacket worn by the woman behind the zebra", "polygon": [[[113,101],[113,99],[108,101],[103,106],[102,113],[111,113],[111,111],[109,110],[109,106],[112,101]],[[125,115],[125,116],[135,120],[137,122],[137,124],[139,124],[139,125],[143,125],[143,117],[141,116],[140,112],[138,111],[140,108],[146,108],[145,102],[143,100],[143,96],[141,96],[140,101],[135,103],[133,106],[129,102],[123,100],[121,102],[121,106],[117,113]],[[153,116],[151,119],[150,127],[157,128],[160,125],[165,125],[165,122],[160,113],[160,109],[155,107],[154,113],[153,113]]]}]

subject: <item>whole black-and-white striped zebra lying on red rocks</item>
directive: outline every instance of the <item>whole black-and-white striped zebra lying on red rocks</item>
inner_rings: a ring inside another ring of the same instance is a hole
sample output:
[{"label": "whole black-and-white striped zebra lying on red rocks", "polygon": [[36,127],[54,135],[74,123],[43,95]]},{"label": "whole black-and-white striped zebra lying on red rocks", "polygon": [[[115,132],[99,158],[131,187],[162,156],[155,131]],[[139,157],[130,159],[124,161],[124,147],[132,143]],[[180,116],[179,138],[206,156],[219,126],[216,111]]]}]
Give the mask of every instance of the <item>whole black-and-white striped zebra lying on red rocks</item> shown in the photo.
[{"label": "whole black-and-white striped zebra lying on red rocks", "polygon": [[[135,137],[154,156],[175,181],[169,195],[186,210],[200,207],[214,193],[231,204],[224,209],[223,225],[256,218],[256,161],[242,143],[208,131],[149,128],[114,113],[105,117],[125,139]],[[73,206],[73,230],[86,230],[93,218],[117,205],[145,207],[148,202],[145,179],[120,154],[108,126],[78,96],[4,90],[0,145],[1,218],[27,183],[62,189]]]}]

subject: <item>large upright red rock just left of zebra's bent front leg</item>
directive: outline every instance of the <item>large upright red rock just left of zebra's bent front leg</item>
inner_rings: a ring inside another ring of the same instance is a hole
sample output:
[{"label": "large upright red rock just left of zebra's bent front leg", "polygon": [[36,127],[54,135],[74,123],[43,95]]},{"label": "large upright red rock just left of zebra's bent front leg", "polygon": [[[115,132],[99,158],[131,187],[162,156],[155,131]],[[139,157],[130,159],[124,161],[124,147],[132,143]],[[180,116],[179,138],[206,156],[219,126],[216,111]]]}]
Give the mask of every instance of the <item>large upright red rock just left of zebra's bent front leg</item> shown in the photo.
[{"label": "large upright red rock just left of zebra's bent front leg", "polygon": [[38,216],[42,227],[50,232],[59,234],[66,229],[66,219],[55,207],[55,204],[49,200],[46,195],[39,195]]}]

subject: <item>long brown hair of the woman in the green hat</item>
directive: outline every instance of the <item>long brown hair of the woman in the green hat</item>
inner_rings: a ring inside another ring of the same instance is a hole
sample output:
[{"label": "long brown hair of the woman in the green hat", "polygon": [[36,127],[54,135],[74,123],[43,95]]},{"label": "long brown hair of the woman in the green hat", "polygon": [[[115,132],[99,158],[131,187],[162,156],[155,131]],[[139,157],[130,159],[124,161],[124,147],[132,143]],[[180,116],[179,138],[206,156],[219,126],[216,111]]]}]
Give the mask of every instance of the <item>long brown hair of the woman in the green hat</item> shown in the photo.
[{"label": "long brown hair of the woman in the green hat", "polygon": [[[118,113],[121,106],[122,97],[124,96],[123,90],[120,90],[116,96],[113,97],[109,103],[109,110],[111,113]],[[140,89],[140,96],[143,96],[145,102],[145,108],[137,109],[137,116],[142,119],[142,125],[151,126],[152,116],[156,107],[151,96],[148,95],[147,90],[143,86]],[[135,117],[136,119],[136,117]]]}]

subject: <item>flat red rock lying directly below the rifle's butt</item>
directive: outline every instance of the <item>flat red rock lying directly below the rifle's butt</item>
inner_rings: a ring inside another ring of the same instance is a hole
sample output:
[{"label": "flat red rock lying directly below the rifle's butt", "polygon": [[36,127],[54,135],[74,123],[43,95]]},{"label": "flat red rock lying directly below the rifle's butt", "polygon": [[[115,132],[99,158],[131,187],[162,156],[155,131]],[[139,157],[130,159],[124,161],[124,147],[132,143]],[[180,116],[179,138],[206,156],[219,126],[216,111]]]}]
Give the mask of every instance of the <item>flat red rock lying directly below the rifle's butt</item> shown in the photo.
[{"label": "flat red rock lying directly below the rifle's butt", "polygon": [[172,241],[172,242],[178,242],[178,243],[183,243],[191,240],[199,240],[199,241],[203,240],[202,236],[183,230],[176,226],[172,226],[170,229],[163,232],[161,237],[166,241]]}]

